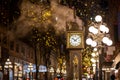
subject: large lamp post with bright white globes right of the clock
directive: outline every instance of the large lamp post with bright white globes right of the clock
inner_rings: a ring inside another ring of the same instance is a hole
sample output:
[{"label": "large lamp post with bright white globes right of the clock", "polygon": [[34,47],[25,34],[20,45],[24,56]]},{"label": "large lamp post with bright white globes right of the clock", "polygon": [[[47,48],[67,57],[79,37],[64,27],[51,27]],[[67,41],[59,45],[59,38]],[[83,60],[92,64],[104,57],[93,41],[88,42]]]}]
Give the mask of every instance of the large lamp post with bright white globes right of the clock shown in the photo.
[{"label": "large lamp post with bright white globes right of the clock", "polygon": [[[99,58],[99,66],[96,67],[99,69],[99,78],[102,78],[102,71],[101,71],[101,49],[104,48],[103,44],[106,46],[112,45],[112,40],[110,39],[109,28],[106,27],[106,23],[102,21],[102,17],[97,15],[95,17],[95,21],[90,24],[88,38],[86,39],[86,44],[91,47],[98,48],[98,58]],[[99,80],[99,79],[97,79]],[[102,79],[100,79],[102,80]]]}]

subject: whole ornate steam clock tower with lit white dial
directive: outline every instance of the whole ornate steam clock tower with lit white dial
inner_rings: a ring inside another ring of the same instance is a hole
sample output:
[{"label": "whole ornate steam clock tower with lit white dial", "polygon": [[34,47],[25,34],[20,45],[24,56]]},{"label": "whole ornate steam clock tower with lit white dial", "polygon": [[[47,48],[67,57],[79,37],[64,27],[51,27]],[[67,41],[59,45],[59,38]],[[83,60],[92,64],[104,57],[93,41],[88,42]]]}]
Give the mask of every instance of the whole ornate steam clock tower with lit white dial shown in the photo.
[{"label": "whole ornate steam clock tower with lit white dial", "polygon": [[82,53],[84,48],[84,31],[79,29],[76,22],[69,22],[70,28],[66,33],[67,49],[69,50],[70,62],[68,67],[69,80],[82,80]]}]

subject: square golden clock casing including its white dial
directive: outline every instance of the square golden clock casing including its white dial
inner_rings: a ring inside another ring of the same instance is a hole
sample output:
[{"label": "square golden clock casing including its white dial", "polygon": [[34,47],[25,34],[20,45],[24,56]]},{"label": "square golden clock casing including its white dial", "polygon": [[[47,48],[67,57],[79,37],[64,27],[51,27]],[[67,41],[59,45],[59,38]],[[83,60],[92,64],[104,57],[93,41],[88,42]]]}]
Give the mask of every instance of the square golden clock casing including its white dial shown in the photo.
[{"label": "square golden clock casing including its white dial", "polygon": [[82,31],[67,32],[67,48],[84,48],[84,36]]}]

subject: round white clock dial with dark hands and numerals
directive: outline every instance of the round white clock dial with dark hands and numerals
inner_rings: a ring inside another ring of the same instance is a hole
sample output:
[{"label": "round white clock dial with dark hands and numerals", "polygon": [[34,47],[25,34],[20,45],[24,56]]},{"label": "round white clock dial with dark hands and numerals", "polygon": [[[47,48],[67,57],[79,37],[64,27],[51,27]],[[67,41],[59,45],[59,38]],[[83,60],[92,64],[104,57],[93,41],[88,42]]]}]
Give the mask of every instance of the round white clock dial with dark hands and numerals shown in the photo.
[{"label": "round white clock dial with dark hands and numerals", "polygon": [[70,45],[78,46],[81,43],[81,37],[77,34],[70,36]]}]

